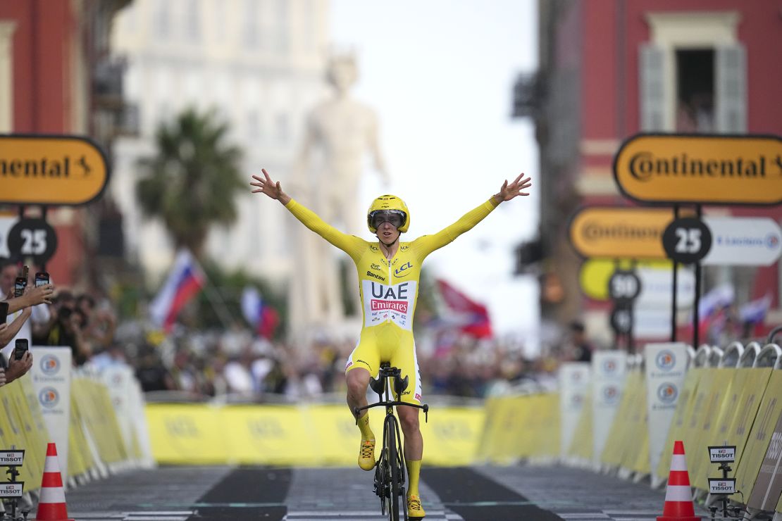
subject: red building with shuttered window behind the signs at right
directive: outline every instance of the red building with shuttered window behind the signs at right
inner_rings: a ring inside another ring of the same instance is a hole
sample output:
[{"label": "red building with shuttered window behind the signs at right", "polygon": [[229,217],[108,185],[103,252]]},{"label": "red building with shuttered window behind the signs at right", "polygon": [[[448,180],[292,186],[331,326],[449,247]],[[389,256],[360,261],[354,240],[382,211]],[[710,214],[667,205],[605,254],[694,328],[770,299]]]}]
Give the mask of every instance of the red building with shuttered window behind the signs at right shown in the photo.
[{"label": "red building with shuttered window behind the signs at right", "polygon": [[[594,330],[607,327],[611,305],[579,291],[582,259],[569,244],[569,216],[582,205],[633,205],[619,194],[612,159],[638,132],[782,134],[780,2],[538,3],[540,70],[516,91],[517,114],[534,117],[540,144],[543,317],[587,316]],[[707,206],[709,213],[782,221],[780,206]],[[771,295],[753,334],[782,323],[779,262],[709,266],[702,282],[702,293],[732,284],[737,306]]]}]

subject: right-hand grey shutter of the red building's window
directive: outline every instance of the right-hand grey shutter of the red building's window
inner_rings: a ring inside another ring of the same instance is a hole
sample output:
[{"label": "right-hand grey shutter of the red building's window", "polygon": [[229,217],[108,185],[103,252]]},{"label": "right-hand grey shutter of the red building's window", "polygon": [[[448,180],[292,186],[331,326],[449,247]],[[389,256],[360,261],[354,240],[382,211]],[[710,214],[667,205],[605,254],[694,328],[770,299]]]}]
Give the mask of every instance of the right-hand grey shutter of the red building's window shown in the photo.
[{"label": "right-hand grey shutter of the red building's window", "polygon": [[744,134],[747,131],[747,52],[744,45],[716,48],[716,131]]}]

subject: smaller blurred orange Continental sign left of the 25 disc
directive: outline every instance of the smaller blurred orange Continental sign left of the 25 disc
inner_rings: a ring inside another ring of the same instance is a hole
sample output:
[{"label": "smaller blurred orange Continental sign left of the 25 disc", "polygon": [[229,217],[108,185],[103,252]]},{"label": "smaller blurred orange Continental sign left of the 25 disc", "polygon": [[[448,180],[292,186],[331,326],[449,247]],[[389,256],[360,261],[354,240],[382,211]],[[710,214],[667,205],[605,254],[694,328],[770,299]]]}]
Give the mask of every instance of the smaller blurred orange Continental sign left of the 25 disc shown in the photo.
[{"label": "smaller blurred orange Continental sign left of the 25 disc", "polygon": [[662,234],[673,210],[587,206],[570,220],[570,241],[583,257],[667,259]]}]

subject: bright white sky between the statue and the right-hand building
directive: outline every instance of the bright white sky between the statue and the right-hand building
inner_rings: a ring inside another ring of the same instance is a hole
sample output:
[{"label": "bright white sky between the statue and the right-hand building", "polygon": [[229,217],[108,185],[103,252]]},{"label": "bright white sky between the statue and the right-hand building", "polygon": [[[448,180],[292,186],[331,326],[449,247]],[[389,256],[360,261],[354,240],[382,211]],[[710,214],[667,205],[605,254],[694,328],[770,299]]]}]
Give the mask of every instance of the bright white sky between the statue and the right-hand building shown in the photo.
[{"label": "bright white sky between the statue and the right-hand building", "polygon": [[390,191],[411,212],[403,237],[434,233],[519,173],[532,194],[500,205],[468,234],[433,253],[425,268],[485,303],[500,335],[536,351],[537,284],[512,276],[513,248],[538,226],[539,163],[529,119],[511,119],[518,73],[537,63],[533,0],[331,0],[336,48],[357,54],[353,95],[378,113],[380,147],[392,177],[362,184],[370,201]]}]

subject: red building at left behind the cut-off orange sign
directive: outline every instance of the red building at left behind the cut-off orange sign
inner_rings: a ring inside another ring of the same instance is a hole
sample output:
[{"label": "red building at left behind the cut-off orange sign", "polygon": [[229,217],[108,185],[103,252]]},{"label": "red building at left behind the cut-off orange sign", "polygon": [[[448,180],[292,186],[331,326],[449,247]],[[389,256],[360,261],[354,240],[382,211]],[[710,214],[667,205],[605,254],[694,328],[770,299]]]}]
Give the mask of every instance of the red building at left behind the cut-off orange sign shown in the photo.
[{"label": "red building at left behind the cut-off orange sign", "polygon": [[[96,71],[107,54],[110,20],[129,1],[0,2],[0,133],[90,135],[107,144]],[[52,209],[47,220],[59,244],[47,265],[52,280],[83,283],[95,250],[95,219],[85,209]]]}]

